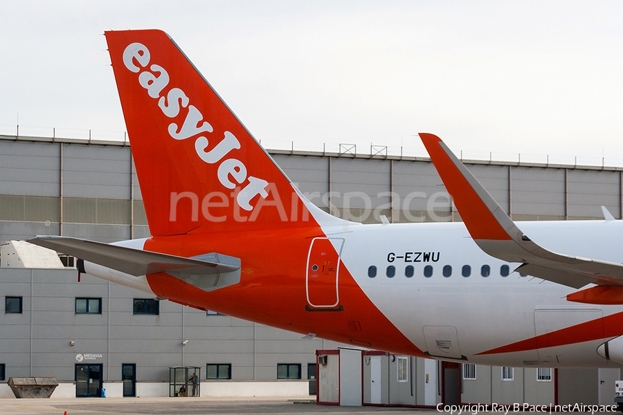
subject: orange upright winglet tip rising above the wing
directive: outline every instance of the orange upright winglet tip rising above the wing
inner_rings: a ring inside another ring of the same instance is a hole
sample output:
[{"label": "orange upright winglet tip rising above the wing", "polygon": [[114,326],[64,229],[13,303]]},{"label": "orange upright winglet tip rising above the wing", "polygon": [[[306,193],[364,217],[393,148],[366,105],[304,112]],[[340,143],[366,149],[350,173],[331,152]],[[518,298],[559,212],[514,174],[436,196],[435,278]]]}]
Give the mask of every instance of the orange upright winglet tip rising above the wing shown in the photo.
[{"label": "orange upright winglet tip rising above the wing", "polygon": [[[431,133],[420,133],[419,138],[431,156],[431,160],[452,196],[471,237],[490,240],[511,239],[480,194],[489,199],[492,204],[497,205],[497,203],[460,160],[443,145],[441,138]],[[464,172],[461,171],[461,168],[464,169]],[[480,194],[478,194],[479,191]]]}]

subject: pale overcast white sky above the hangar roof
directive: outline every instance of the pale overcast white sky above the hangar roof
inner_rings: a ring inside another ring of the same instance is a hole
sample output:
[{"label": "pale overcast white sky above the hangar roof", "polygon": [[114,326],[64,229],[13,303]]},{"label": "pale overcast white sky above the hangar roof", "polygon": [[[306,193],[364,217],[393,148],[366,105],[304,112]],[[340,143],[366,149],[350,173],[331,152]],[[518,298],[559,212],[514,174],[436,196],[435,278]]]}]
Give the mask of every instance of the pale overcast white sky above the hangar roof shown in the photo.
[{"label": "pale overcast white sky above the hangar roof", "polygon": [[169,33],[267,147],[623,163],[622,1],[2,1],[0,133],[123,135],[102,33],[126,28]]}]

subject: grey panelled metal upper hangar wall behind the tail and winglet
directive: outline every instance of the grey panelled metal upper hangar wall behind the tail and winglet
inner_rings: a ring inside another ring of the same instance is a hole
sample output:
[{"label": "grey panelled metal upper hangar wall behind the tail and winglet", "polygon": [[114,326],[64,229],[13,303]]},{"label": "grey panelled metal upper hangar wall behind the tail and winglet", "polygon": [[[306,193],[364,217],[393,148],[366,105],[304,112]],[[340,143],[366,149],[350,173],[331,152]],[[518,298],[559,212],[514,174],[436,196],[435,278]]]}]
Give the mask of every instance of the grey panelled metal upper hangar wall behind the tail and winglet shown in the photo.
[{"label": "grey panelled metal upper hangar wall behind the tail and winglet", "polygon": [[[0,137],[0,239],[62,234],[117,241],[149,235],[132,154],[123,142]],[[364,223],[459,221],[427,160],[273,151],[316,205]],[[468,162],[515,220],[621,217],[621,169]],[[47,221],[47,223],[46,223]]]}]

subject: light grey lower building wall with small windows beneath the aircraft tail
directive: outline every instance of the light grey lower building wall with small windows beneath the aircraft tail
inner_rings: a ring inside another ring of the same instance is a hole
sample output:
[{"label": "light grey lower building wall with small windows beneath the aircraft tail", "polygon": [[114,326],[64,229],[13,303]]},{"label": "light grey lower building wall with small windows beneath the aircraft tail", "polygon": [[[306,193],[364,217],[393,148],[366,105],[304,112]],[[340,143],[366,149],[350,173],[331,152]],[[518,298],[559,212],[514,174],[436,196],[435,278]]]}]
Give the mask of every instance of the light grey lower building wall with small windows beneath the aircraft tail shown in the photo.
[{"label": "light grey lower building wall with small windows beneath the aircraft tail", "polygon": [[[233,380],[276,380],[278,363],[295,363],[305,380],[316,349],[336,346],[168,301],[160,302],[159,315],[134,315],[133,299],[143,293],[89,275],[78,283],[77,276],[72,269],[3,268],[3,296],[23,297],[23,313],[0,310],[7,378],[73,381],[76,355],[91,353],[97,356],[91,362],[103,365],[105,382],[121,379],[123,363],[136,363],[139,382],[168,381],[168,367],[178,365],[201,367],[205,376],[208,363],[231,363]],[[102,313],[76,314],[75,297],[102,298]]]}]

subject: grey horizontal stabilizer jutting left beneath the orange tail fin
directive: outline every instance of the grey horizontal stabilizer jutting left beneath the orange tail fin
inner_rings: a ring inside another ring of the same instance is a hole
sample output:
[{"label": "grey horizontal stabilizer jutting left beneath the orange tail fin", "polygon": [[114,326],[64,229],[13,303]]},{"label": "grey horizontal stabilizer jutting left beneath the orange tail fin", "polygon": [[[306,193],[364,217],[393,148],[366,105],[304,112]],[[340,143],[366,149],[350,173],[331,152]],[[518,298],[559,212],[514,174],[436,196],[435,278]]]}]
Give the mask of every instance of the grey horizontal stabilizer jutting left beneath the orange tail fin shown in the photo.
[{"label": "grey horizontal stabilizer jutting left beneath the orange tail fin", "polygon": [[160,272],[213,275],[240,269],[240,259],[219,254],[184,258],[71,237],[39,236],[29,239],[28,242],[135,277]]}]

